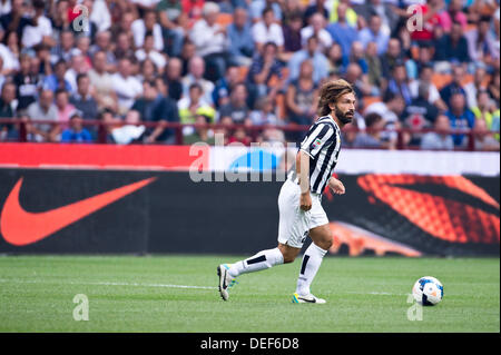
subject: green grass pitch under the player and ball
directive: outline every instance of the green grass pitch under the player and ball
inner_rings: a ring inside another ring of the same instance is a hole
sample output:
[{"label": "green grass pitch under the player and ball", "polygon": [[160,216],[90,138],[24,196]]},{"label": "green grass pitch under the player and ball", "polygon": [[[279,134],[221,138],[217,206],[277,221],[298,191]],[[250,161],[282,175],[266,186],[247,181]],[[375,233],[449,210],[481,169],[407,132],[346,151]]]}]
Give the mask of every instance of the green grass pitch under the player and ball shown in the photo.
[{"label": "green grass pitch under the player and ball", "polygon": [[[325,257],[292,304],[301,258],[242,275],[228,302],[216,267],[228,256],[0,257],[0,332],[500,332],[499,258]],[[444,298],[409,321],[407,295],[435,276]],[[73,319],[77,294],[89,321]]]}]

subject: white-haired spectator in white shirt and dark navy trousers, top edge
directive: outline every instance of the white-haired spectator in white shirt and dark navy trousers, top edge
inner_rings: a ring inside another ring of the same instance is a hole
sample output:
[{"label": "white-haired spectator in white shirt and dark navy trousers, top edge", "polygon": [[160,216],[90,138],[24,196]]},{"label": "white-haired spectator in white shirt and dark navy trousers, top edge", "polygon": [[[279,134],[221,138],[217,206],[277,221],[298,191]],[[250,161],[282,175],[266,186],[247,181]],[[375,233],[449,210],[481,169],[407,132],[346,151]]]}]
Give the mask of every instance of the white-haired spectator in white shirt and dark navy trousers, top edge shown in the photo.
[{"label": "white-haired spectator in white shirt and dark navy trousers, top edge", "polygon": [[216,22],[218,14],[219,6],[212,1],[206,2],[203,18],[195,22],[189,33],[189,39],[196,47],[196,55],[205,60],[205,77],[210,81],[222,78],[229,62],[226,29]]}]

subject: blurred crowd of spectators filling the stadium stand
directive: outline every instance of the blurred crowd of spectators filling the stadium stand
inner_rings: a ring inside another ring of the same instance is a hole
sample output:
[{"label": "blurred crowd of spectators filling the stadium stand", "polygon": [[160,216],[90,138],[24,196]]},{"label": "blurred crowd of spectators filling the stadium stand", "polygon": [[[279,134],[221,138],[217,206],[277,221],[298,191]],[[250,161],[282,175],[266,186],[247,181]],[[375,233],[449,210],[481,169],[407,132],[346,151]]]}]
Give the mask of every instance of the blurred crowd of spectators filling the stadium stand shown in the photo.
[{"label": "blurred crowd of spectators filling the stadium stand", "polygon": [[344,78],[346,147],[462,149],[460,128],[499,150],[499,0],[0,0],[0,119],[29,141],[96,141],[86,120],[116,144],[175,144],[163,122],[205,124],[185,144],[293,141]]}]

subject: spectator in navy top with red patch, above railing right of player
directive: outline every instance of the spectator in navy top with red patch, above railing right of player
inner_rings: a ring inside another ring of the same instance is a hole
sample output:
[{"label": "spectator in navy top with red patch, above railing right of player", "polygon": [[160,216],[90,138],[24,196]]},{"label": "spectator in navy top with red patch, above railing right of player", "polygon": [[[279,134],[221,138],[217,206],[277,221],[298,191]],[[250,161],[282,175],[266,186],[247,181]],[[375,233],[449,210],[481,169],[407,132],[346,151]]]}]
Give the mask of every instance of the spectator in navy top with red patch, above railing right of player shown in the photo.
[{"label": "spectator in navy top with red patch, above railing right of player", "polygon": [[[430,86],[425,82],[421,83],[418,89],[418,97],[412,99],[411,105],[405,107],[403,112],[403,127],[411,128],[412,130],[433,127],[439,110],[429,102],[429,96]],[[411,146],[419,146],[421,137],[421,134],[405,134],[404,142]]]}]

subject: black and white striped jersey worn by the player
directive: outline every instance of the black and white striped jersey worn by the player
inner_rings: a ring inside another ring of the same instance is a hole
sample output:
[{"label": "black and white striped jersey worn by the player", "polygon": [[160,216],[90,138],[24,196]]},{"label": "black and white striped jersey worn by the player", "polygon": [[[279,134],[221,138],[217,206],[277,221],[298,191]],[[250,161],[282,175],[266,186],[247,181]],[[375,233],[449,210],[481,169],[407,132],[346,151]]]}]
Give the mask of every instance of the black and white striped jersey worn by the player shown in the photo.
[{"label": "black and white striped jersey worn by the player", "polygon": [[[331,115],[321,117],[313,124],[301,142],[299,150],[310,156],[310,190],[322,194],[337,164],[341,150],[341,129]],[[289,177],[293,180],[297,179],[295,167],[292,170]]]}]

